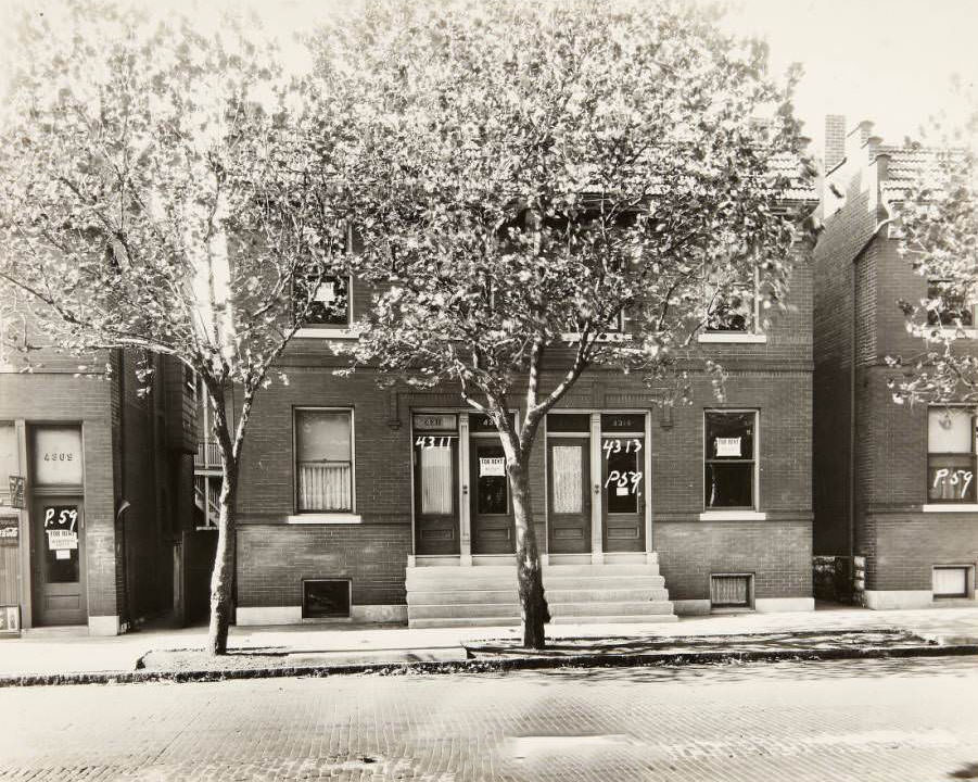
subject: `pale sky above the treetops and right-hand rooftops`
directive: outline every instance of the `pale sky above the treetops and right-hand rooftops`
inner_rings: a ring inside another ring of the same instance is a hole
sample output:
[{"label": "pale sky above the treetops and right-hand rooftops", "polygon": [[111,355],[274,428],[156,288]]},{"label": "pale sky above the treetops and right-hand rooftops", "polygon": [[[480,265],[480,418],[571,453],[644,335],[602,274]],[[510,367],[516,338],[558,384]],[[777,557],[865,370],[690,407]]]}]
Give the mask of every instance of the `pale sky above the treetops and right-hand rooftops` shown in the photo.
[{"label": "pale sky above the treetops and right-hand rooftops", "polygon": [[[333,9],[358,0],[238,0],[234,4],[245,2],[269,33],[288,39],[296,30],[315,26]],[[24,3],[52,4],[0,0],[0,27],[3,14]],[[156,8],[189,9],[202,24],[219,4],[154,2]],[[965,102],[951,89],[954,77],[976,92],[978,0],[731,0],[724,25],[765,38],[776,72],[784,72],[791,62],[802,64],[796,109],[816,151],[822,149],[826,114],[844,115],[849,127],[871,119],[877,135],[899,142],[904,136],[916,136],[932,114],[944,112],[952,122],[964,117]]]}]

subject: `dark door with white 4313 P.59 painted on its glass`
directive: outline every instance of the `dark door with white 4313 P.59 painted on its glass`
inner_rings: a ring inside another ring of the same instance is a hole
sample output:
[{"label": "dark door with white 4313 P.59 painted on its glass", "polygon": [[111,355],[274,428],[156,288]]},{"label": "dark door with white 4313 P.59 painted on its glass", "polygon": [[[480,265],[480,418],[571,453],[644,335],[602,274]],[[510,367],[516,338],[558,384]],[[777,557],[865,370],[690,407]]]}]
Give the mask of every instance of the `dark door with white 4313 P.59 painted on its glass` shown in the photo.
[{"label": "dark door with white 4313 P.59 painted on its glass", "polygon": [[601,510],[606,552],[645,551],[644,438],[601,438]]}]

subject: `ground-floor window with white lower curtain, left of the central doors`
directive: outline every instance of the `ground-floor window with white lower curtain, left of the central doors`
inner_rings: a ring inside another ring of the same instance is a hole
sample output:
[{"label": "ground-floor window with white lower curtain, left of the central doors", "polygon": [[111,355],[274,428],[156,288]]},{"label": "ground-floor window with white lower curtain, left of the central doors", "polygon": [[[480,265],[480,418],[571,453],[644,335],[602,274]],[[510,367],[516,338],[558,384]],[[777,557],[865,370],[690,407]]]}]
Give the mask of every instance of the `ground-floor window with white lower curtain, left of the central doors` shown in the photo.
[{"label": "ground-floor window with white lower curtain, left of the central doors", "polygon": [[352,434],[352,411],[295,411],[300,513],[353,510]]}]

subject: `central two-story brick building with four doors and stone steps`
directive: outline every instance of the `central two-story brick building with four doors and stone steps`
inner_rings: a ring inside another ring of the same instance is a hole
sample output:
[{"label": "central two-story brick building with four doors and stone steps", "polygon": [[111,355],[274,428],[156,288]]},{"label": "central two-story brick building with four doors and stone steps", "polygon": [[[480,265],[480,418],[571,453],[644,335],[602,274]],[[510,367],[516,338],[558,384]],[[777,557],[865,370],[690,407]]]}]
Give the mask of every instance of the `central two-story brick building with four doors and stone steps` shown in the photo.
[{"label": "central two-story brick building with four doors and stone steps", "polygon": [[[812,195],[791,193],[809,207]],[[237,622],[517,622],[495,430],[453,389],[336,377],[334,346],[356,339],[370,304],[356,283],[325,291],[345,293],[345,313],[292,341],[288,384],[259,394],[251,415]],[[722,404],[702,374],[694,405],[669,408],[639,378],[592,369],[547,417],[531,480],[555,621],[813,607],[806,262],[791,302],[766,330],[755,311],[700,335],[729,373]]]}]

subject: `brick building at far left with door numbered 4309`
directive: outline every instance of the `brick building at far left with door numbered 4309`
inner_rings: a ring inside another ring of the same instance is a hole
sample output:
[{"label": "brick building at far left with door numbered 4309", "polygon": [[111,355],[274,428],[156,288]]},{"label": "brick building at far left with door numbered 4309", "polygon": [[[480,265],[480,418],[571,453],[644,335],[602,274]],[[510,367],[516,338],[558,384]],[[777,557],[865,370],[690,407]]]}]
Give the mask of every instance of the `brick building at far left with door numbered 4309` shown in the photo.
[{"label": "brick building at far left with door numbered 4309", "polygon": [[213,534],[193,530],[195,409],[180,366],[153,360],[141,394],[136,357],[118,351],[34,363],[0,362],[3,629],[186,620],[207,582],[185,562],[213,551]]}]

